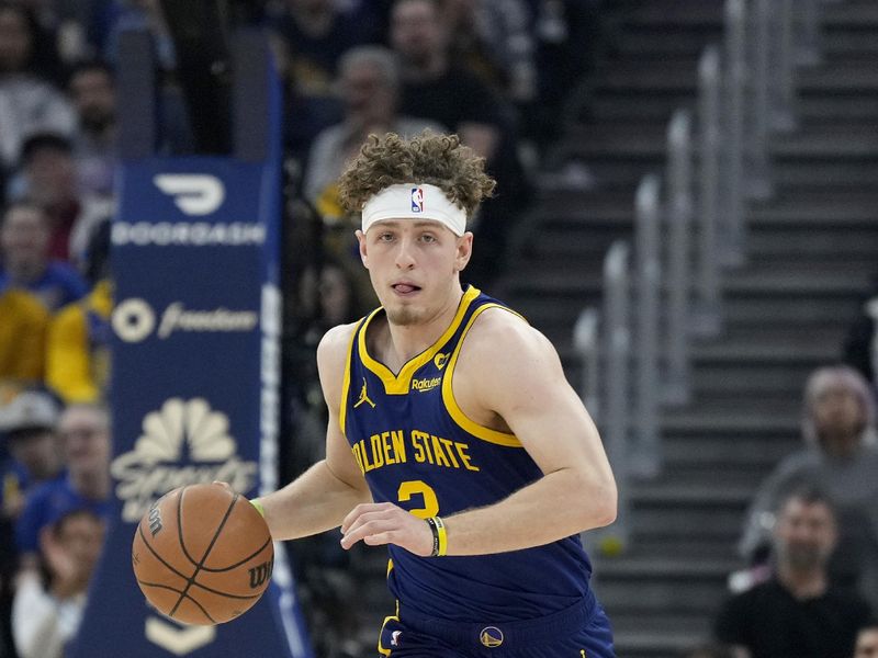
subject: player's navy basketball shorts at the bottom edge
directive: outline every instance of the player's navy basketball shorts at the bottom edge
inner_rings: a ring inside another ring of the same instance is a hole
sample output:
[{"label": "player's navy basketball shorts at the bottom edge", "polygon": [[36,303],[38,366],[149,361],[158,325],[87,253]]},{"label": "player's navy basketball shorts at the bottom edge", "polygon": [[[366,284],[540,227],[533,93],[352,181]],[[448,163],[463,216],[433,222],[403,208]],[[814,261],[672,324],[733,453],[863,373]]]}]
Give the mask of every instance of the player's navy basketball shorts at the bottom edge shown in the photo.
[{"label": "player's navy basketball shorts at the bottom edge", "polygon": [[612,631],[594,594],[552,615],[510,623],[459,624],[401,606],[381,628],[390,658],[616,658]]}]

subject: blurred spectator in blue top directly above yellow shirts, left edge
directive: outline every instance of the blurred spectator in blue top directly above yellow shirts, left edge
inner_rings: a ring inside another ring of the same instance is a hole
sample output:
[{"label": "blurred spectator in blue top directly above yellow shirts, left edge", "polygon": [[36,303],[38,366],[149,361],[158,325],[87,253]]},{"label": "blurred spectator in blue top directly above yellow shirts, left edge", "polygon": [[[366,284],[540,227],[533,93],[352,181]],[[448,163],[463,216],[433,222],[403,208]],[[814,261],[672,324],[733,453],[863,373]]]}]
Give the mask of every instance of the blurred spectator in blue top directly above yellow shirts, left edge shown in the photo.
[{"label": "blurred spectator in blue top directly above yellow shirts, left edge", "polygon": [[0,218],[0,287],[25,288],[54,313],[88,288],[72,266],[49,259],[49,237],[48,216],[36,204],[15,202]]}]

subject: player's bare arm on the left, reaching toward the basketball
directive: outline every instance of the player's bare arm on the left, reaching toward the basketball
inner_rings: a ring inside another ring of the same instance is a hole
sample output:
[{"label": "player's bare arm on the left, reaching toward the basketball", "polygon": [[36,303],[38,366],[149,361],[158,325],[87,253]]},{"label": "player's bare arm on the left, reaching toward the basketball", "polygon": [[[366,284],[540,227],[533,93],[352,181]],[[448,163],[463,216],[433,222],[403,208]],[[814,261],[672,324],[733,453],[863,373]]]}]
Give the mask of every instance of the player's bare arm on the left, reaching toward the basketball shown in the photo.
[{"label": "player's bare arm on the left, reaching toward the basketball", "polygon": [[338,527],[350,510],[370,501],[365,479],[339,427],[341,386],[354,325],[326,332],[317,348],[320,385],[329,408],[326,458],[283,489],[259,499],[275,540],[292,540]]}]

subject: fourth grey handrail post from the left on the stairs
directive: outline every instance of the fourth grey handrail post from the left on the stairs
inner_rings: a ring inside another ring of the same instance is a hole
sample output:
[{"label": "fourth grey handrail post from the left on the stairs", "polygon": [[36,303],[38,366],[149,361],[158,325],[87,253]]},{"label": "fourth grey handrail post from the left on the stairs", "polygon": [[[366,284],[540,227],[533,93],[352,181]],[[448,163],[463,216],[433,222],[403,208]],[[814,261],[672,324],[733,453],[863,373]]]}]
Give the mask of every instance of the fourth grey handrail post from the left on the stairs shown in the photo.
[{"label": "fourth grey handrail post from the left on the stairs", "polygon": [[688,110],[677,110],[667,128],[667,319],[664,331],[667,372],[663,394],[664,401],[671,405],[688,402],[690,388],[691,123]]}]

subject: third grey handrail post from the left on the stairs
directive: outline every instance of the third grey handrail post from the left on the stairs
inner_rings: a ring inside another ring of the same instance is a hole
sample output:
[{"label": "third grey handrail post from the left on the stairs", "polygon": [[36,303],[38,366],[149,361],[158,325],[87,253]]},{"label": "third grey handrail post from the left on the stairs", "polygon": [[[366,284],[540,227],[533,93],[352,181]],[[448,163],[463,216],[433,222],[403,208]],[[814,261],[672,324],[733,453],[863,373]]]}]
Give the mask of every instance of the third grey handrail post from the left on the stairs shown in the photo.
[{"label": "third grey handrail post from the left on the stairs", "polygon": [[658,293],[662,281],[662,181],[644,177],[634,198],[634,256],[637,326],[635,450],[632,470],[642,477],[658,475],[663,465],[658,431]]}]

